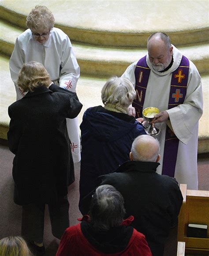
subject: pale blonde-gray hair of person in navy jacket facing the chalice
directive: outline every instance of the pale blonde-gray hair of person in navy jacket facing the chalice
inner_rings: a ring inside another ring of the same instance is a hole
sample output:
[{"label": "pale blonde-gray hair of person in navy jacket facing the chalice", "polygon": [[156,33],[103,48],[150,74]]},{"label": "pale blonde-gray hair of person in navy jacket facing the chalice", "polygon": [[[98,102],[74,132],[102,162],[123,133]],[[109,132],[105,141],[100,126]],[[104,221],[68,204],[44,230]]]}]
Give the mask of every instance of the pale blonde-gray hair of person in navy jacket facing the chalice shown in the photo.
[{"label": "pale blonde-gray hair of person in navy jacket facing the chalice", "polygon": [[128,108],[135,97],[133,84],[124,77],[114,76],[108,79],[101,90],[101,99],[104,104],[110,103],[123,108]]}]

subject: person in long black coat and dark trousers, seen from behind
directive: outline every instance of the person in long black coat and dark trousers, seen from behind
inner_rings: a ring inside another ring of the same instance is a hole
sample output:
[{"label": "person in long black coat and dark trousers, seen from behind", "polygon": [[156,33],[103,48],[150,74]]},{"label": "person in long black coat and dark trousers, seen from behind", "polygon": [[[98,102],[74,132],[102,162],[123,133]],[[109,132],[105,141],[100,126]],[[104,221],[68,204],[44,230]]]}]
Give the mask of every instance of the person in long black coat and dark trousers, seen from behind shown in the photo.
[{"label": "person in long black coat and dark trousers, seen from behind", "polygon": [[82,104],[76,93],[52,84],[44,66],[34,61],[22,66],[18,86],[28,93],[8,108],[11,121],[7,137],[15,154],[14,202],[23,209],[22,236],[44,251],[45,204],[49,204],[55,237],[60,239],[69,226],[71,148],[66,118],[77,117]]}]

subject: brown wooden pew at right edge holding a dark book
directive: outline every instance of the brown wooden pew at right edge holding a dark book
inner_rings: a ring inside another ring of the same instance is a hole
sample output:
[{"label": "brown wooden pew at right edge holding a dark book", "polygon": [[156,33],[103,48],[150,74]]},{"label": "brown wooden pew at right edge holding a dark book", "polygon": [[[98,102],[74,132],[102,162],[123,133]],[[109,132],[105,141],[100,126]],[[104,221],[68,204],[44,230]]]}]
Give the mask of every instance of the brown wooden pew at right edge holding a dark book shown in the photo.
[{"label": "brown wooden pew at right edge holding a dark book", "polygon": [[[178,241],[185,242],[186,252],[207,252],[209,254],[209,191],[188,190],[180,184],[183,204],[178,220]],[[208,225],[207,238],[187,237],[189,223]]]}]

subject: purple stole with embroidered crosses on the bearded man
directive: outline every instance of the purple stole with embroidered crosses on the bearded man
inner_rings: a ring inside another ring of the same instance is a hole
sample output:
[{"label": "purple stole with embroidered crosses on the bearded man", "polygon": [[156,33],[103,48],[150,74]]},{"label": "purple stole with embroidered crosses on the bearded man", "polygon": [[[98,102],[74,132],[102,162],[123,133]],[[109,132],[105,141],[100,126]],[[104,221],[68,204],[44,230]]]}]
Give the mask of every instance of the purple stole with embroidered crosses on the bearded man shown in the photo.
[{"label": "purple stole with embroidered crosses on the bearded man", "polygon": [[[136,98],[132,104],[136,109],[136,117],[142,117],[146,88],[149,80],[150,68],[146,64],[146,56],[140,59],[135,68]],[[187,94],[187,81],[189,74],[189,60],[182,56],[179,67],[172,72],[171,89],[168,109],[183,104]],[[174,177],[175,164],[179,147],[179,139],[167,126],[165,134],[164,157],[162,174]]]}]

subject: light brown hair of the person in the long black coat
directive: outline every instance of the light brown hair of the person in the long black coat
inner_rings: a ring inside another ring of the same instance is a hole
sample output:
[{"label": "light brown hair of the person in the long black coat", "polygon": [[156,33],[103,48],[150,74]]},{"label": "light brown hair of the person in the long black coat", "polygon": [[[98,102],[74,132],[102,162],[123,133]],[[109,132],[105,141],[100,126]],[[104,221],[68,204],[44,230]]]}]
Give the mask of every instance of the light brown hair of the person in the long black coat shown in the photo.
[{"label": "light brown hair of the person in the long black coat", "polygon": [[22,65],[17,84],[23,92],[33,92],[35,88],[41,86],[49,87],[50,83],[49,74],[41,63],[30,61]]}]

